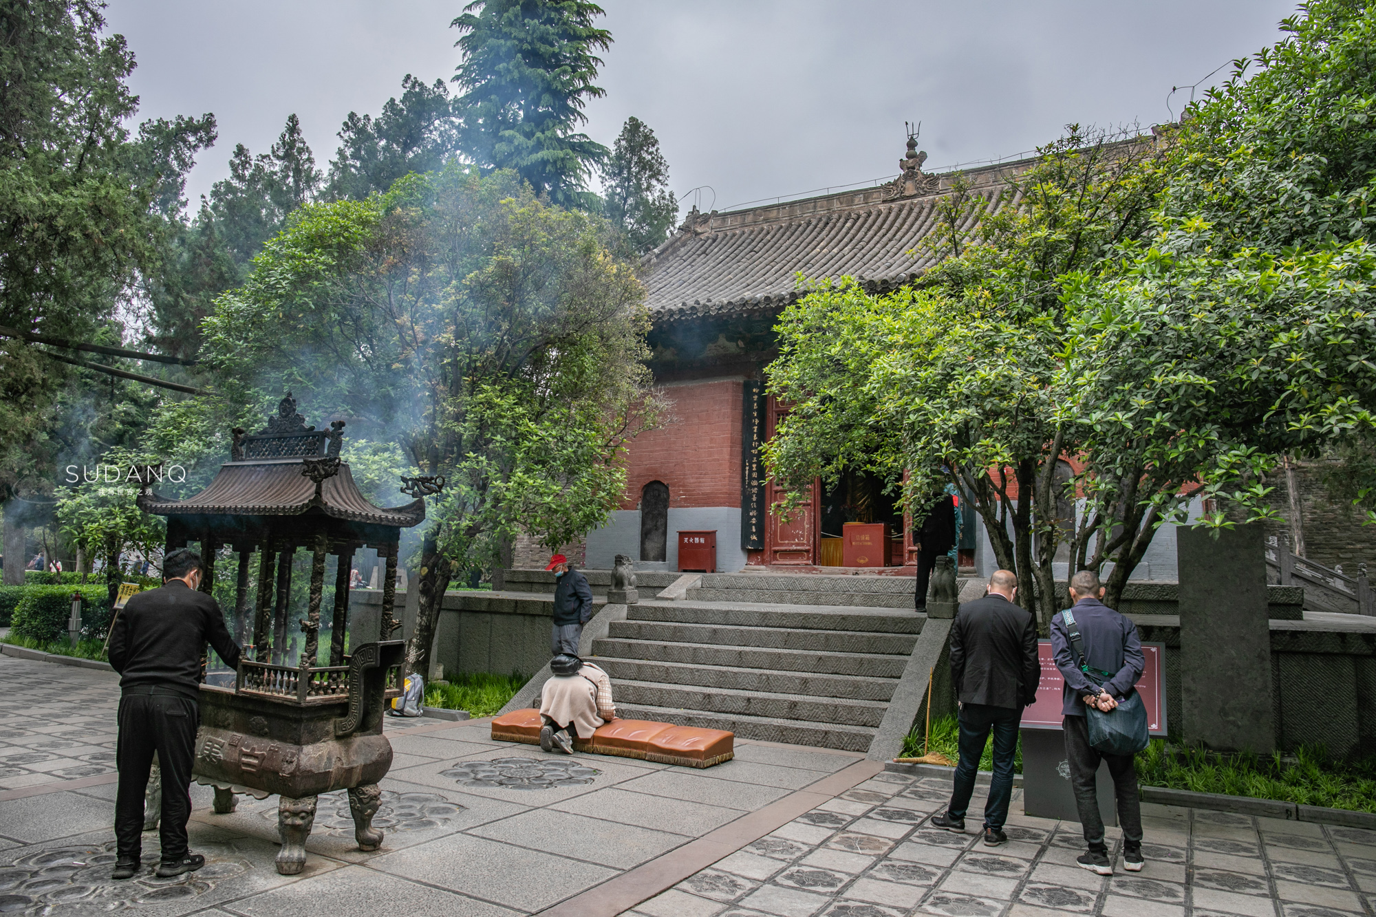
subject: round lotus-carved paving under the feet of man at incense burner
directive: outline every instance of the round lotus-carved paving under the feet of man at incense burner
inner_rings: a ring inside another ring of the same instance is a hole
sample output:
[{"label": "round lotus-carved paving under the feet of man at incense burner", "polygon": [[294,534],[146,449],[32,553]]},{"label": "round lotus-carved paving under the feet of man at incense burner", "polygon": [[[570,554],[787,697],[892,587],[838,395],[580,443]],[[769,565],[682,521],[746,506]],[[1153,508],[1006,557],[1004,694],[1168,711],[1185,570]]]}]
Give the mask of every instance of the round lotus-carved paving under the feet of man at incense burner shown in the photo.
[{"label": "round lotus-carved paving under the feet of man at incense burner", "polygon": [[[202,845],[202,850],[205,847]],[[153,874],[155,858],[144,859],[139,873],[124,881],[110,878],[116,843],[85,847],[51,847],[0,867],[0,913],[85,917],[109,914],[139,905],[162,905],[204,895],[217,881],[252,869],[242,858],[216,855],[213,845],[205,866],[175,878]]]}]

